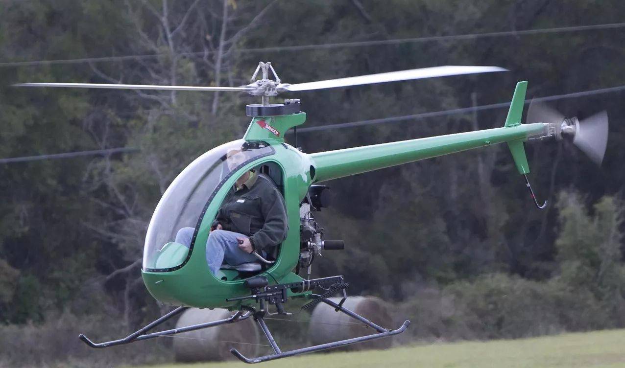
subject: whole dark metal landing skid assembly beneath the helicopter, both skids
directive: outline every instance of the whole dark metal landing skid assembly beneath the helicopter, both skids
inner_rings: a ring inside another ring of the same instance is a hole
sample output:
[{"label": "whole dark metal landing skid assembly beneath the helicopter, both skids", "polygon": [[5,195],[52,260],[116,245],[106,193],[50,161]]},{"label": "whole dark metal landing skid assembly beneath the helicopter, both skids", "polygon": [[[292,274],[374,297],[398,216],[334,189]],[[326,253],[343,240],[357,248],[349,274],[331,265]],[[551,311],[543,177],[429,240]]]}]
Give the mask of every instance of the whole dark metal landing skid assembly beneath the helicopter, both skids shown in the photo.
[{"label": "whole dark metal landing skid assembly beneath the helicopter, both skids", "polygon": [[[342,281],[342,277],[339,276],[339,278]],[[325,279],[315,279],[315,280],[310,280],[307,282],[310,282],[311,286],[314,284],[322,285],[322,284],[327,284],[330,282],[336,282],[336,279],[337,277],[327,277]],[[374,324],[368,319],[362,316],[359,316],[355,312],[352,312],[349,309],[343,307],[342,302],[345,300],[346,294],[344,294],[343,300],[339,302],[338,304],[327,299],[327,296],[325,294],[324,295],[312,294],[311,297],[312,299],[314,299],[315,302],[324,302],[325,304],[333,307],[336,312],[342,312],[344,314],[347,314],[347,316],[353,319],[356,319],[356,321],[359,321],[362,324],[376,330],[377,333],[367,335],[367,336],[362,336],[362,337],[355,337],[354,339],[346,339],[346,340],[341,340],[341,341],[336,341],[336,342],[330,342],[328,344],[321,344],[317,346],[304,347],[302,349],[295,349],[292,351],[282,352],[280,348],[277,346],[276,341],[274,340],[273,336],[271,335],[271,332],[267,328],[267,325],[265,324],[265,321],[264,321],[264,316],[267,313],[266,302],[269,302],[270,304],[276,304],[277,309],[279,311],[282,310],[281,304],[282,302],[286,301],[286,297],[282,297],[284,299],[276,299],[276,297],[279,295],[281,296],[286,295],[286,292],[284,291],[286,290],[286,288],[290,288],[292,286],[293,286],[292,284],[279,284],[276,286],[267,287],[266,281],[264,281],[264,284],[261,283],[261,284],[251,285],[251,289],[252,289],[251,297],[253,299],[256,299],[259,302],[260,309],[256,310],[254,307],[251,307],[251,306],[241,306],[241,311],[237,311],[236,313],[232,314],[231,317],[226,318],[226,319],[221,319],[219,321],[195,324],[192,326],[181,327],[179,329],[171,329],[171,330],[160,331],[160,332],[146,333],[149,330],[153,329],[154,327],[158,326],[159,324],[162,324],[163,322],[168,321],[168,319],[171,319],[172,317],[177,316],[184,310],[188,309],[187,307],[178,307],[174,309],[173,311],[169,312],[168,314],[166,314],[165,316],[157,319],[154,322],[151,322],[150,324],[148,324],[148,326],[145,326],[142,329],[139,329],[138,331],[133,332],[133,334],[130,334],[129,336],[124,337],[123,339],[95,343],[89,340],[88,337],[84,336],[83,334],[79,336],[79,339],[81,339],[85,344],[87,344],[90,347],[101,349],[103,347],[130,344],[131,342],[154,339],[155,337],[171,336],[171,335],[179,334],[181,332],[195,331],[199,329],[206,329],[209,327],[221,326],[222,324],[232,324],[232,323],[236,323],[240,321],[245,321],[246,319],[249,319],[249,317],[254,317],[254,321],[256,321],[256,324],[260,327],[262,332],[267,337],[267,340],[269,341],[269,344],[271,345],[274,351],[274,354],[269,354],[267,356],[256,357],[256,358],[250,359],[250,358],[243,356],[243,354],[237,351],[237,349],[230,349],[230,352],[234,356],[236,356],[238,359],[240,359],[242,362],[252,364],[252,363],[272,361],[274,359],[297,356],[299,354],[306,354],[309,352],[334,349],[336,347],[358,344],[359,342],[381,339],[382,337],[401,334],[402,332],[406,331],[406,328],[410,325],[410,321],[405,321],[396,330],[385,329],[383,327],[377,326],[377,324]],[[261,288],[262,288],[262,291],[261,291]],[[247,298],[247,297],[244,297],[244,298]],[[237,299],[242,299],[242,298],[237,298]]]}]

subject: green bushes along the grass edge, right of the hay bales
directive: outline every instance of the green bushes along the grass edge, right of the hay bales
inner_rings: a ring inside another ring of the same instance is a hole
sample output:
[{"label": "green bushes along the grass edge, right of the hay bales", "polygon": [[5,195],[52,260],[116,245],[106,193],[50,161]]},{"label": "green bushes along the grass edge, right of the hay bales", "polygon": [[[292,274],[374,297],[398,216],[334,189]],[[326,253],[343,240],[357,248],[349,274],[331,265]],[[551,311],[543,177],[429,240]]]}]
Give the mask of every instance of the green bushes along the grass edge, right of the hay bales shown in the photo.
[{"label": "green bushes along the grass edge, right of the hay bales", "polygon": [[581,196],[559,194],[560,272],[548,281],[484,274],[426,287],[402,309],[421,338],[500,339],[625,326],[622,206],[606,196],[587,211]]}]

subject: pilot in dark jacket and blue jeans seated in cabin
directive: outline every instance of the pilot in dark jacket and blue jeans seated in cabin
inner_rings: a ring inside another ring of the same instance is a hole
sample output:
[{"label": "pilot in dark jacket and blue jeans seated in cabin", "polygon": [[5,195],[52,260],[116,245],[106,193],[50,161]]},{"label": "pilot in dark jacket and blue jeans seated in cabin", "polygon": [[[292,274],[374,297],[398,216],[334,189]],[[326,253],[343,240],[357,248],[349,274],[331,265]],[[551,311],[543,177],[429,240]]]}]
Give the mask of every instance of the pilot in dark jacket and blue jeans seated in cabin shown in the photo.
[{"label": "pilot in dark jacket and blue jeans seated in cabin", "polygon": [[[227,152],[227,166],[232,171],[246,161],[242,150]],[[277,256],[276,246],[286,239],[289,226],[282,194],[269,177],[246,171],[227,194],[211,226],[206,242],[206,262],[216,275],[222,263],[236,266],[257,262],[262,256]],[[191,244],[194,229],[178,231],[176,242]]]}]

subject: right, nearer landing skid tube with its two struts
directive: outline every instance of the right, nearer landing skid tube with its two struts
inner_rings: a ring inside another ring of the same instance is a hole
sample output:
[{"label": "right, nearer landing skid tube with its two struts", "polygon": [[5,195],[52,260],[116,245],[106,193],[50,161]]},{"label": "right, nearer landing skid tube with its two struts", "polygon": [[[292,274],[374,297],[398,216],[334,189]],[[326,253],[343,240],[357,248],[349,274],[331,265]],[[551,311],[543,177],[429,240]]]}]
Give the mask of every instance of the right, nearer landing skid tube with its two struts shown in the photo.
[{"label": "right, nearer landing skid tube with its two struts", "polygon": [[[321,296],[318,296],[316,294],[313,294],[312,296],[313,297],[321,297]],[[306,354],[306,353],[309,353],[309,352],[316,352],[316,351],[322,351],[322,350],[327,350],[327,349],[334,349],[336,347],[347,346],[347,345],[357,344],[359,342],[365,342],[365,341],[370,341],[370,340],[375,340],[375,339],[381,339],[382,337],[387,337],[387,336],[393,336],[393,335],[396,335],[396,334],[401,334],[402,332],[406,331],[406,328],[410,325],[410,321],[406,320],[396,330],[384,329],[384,328],[382,328],[380,326],[377,326],[376,324],[374,324],[373,322],[369,321],[368,319],[366,319],[366,318],[364,318],[362,316],[359,316],[358,314],[350,311],[349,309],[346,309],[345,307],[339,306],[339,304],[336,304],[335,302],[329,301],[327,299],[322,299],[321,301],[326,303],[327,305],[329,305],[331,307],[334,307],[335,309],[337,309],[337,311],[343,312],[344,314],[347,314],[347,316],[352,317],[352,318],[356,319],[357,321],[362,322],[363,324],[366,324],[367,326],[371,327],[372,329],[375,329],[377,331],[377,334],[372,334],[372,335],[368,335],[368,336],[361,336],[361,337],[354,337],[353,339],[341,340],[341,341],[336,341],[336,342],[329,342],[327,344],[303,347],[302,349],[296,349],[296,350],[292,350],[292,351],[281,352],[280,348],[277,347],[276,341],[274,341],[273,336],[271,336],[271,332],[269,331],[269,329],[267,329],[267,325],[262,320],[262,316],[264,315],[264,312],[258,312],[258,313],[255,314],[254,318],[256,319],[257,324],[261,327],[262,332],[265,333],[265,336],[267,337],[267,340],[269,340],[269,344],[271,344],[271,347],[274,350],[274,354],[270,354],[268,356],[262,356],[262,357],[249,359],[249,358],[245,357],[243,354],[241,354],[241,352],[237,351],[237,349],[234,349],[234,348],[230,349],[230,352],[232,353],[232,355],[234,355],[237,358],[239,358],[239,360],[241,360],[242,362],[246,362],[246,363],[249,363],[249,364],[261,363],[261,362],[266,362],[266,361],[273,361],[274,359],[292,357],[292,356],[296,356],[296,355],[299,355],[299,354]]]}]

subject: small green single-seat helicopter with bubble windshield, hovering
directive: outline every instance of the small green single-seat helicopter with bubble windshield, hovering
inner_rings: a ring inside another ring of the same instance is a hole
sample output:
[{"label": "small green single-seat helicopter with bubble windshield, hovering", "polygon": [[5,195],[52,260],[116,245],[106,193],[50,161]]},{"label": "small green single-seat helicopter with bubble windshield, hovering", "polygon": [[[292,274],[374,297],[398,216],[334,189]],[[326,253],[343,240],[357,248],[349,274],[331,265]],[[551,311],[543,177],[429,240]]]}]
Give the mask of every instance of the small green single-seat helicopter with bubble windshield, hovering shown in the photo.
[{"label": "small green single-seat helicopter with bubble windshield, hovering", "polygon": [[[524,142],[570,141],[593,161],[601,163],[607,142],[606,112],[586,119],[566,118],[554,109],[532,101],[527,114],[529,122],[522,124],[527,81],[521,81],[516,84],[502,127],[306,154],[297,147],[297,126],[306,121],[306,113],[301,111],[301,101],[285,99],[284,103],[277,104],[270,103],[269,98],[282,92],[500,71],[506,69],[494,66],[439,66],[285,84],[280,81],[271,62],[259,62],[250,83],[241,87],[16,84],[15,86],[22,87],[235,91],[261,97],[260,104],[246,106],[246,115],[252,119],[242,139],[214,147],[192,161],[164,192],[149,222],[141,269],[143,281],[157,301],[177,306],[176,309],[123,339],[96,343],[84,334],[79,339],[90,347],[104,348],[234,324],[252,318],[267,337],[273,353],[249,358],[234,348],[230,352],[243,362],[258,363],[381,339],[406,331],[410,321],[404,321],[396,329],[387,329],[344,307],[348,286],[344,277],[311,279],[311,267],[316,254],[326,250],[344,249],[344,242],[341,240],[323,239],[322,228],[314,219],[313,212],[321,211],[327,207],[328,202],[329,188],[320,183],[421,159],[506,143],[534,204],[543,209],[547,202],[540,204],[537,201],[527,177],[529,164]],[[259,72],[261,76],[257,79]],[[269,77],[270,72],[273,79]],[[284,139],[291,128],[295,136],[293,146]],[[244,155],[235,166],[228,162],[228,152],[232,151]],[[284,197],[289,227],[287,237],[277,245],[278,252],[275,257],[252,252],[256,262],[237,266],[223,264],[216,274],[212,274],[205,258],[206,242],[212,223],[237,179],[251,169],[271,179]],[[174,240],[176,232],[183,227],[193,229],[188,246]],[[321,288],[324,292],[315,294],[313,291],[316,288]],[[340,301],[332,301],[330,297],[337,293],[341,295]],[[336,312],[356,319],[375,332],[368,336],[282,352],[267,328],[264,317],[291,314],[287,309],[297,307],[300,311],[310,310],[319,303],[331,306]],[[232,315],[218,321],[149,332],[190,307],[224,308],[231,311]]]}]

